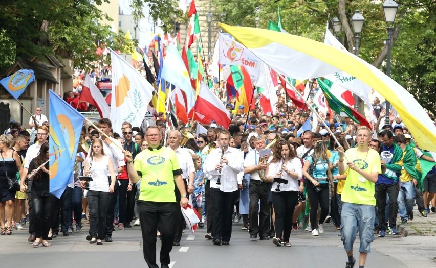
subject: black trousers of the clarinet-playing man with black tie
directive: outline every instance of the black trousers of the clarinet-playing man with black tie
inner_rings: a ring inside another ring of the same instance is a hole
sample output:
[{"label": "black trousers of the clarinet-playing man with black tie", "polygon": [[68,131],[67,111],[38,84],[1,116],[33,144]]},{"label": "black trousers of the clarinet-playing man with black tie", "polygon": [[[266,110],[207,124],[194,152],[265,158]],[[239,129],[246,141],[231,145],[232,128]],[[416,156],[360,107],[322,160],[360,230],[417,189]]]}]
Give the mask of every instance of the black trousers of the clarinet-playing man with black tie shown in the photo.
[{"label": "black trousers of the clarinet-playing man with black tie", "polygon": [[214,240],[230,241],[232,236],[232,214],[238,191],[223,192],[210,188],[213,203],[212,233]]}]

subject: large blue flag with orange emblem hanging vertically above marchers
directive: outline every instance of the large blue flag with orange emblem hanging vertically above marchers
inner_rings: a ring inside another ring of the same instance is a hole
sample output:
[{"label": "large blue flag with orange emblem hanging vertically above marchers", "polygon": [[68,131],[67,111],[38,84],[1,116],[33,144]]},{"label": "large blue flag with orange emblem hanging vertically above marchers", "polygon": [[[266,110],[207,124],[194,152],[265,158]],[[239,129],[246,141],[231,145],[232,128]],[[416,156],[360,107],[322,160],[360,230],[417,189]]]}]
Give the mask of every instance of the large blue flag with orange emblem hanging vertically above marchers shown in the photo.
[{"label": "large blue flag with orange emblem hanging vertically above marchers", "polygon": [[60,198],[73,182],[80,132],[85,117],[49,90],[50,99],[50,193]]}]

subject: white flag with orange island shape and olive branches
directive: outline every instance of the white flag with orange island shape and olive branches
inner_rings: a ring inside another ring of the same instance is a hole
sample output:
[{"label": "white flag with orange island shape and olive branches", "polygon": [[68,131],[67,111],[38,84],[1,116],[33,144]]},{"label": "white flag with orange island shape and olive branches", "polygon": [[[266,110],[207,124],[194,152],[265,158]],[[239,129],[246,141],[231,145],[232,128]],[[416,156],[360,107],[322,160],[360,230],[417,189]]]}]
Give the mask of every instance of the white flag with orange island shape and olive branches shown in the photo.
[{"label": "white flag with orange island shape and olive branches", "polygon": [[141,126],[154,88],[139,72],[111,50],[111,121],[114,132],[121,133],[124,121]]}]

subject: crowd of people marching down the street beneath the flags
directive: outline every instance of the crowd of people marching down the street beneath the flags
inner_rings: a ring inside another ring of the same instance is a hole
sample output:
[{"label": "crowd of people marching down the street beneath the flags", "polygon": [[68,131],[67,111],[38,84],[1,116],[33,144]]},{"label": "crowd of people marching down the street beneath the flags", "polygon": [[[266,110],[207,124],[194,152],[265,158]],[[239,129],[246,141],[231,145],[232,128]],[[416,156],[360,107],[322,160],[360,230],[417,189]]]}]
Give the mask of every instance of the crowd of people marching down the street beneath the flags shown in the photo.
[{"label": "crowd of people marching down the street beneath the flags", "polygon": [[124,122],[120,130],[102,118],[99,130],[83,127],[73,180],[58,199],[49,192],[49,125],[37,107],[30,129],[11,121],[0,136],[0,234],[29,225],[28,241],[48,247],[59,233],[89,224],[86,239],[101,245],[133,223],[141,226],[148,266],[158,267],[160,238],[166,267],[186,226],[180,206],[190,203],[216,246],[229,245],[232,222],[242,221],[249,239],[285,247],[299,228],[319,236],[324,223],[333,224],[353,267],[357,232],[363,266],[374,235],[399,234],[398,215],[412,221],[413,204],[423,217],[436,212],[436,168],[422,176],[420,165],[434,159],[401,118],[392,117],[377,138],[348,117],[330,116],[297,136],[308,117],[294,122],[252,110],[234,115],[228,130],[212,123],[198,135],[194,122],[165,131],[163,116],[146,129]]}]

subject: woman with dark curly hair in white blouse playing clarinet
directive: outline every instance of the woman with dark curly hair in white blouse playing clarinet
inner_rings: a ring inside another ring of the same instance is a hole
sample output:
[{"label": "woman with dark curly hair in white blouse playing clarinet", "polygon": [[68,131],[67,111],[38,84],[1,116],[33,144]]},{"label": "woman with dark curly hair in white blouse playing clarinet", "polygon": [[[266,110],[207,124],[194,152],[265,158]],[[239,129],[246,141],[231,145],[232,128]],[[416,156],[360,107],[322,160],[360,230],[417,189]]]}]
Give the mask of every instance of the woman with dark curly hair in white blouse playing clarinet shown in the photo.
[{"label": "woman with dark curly hair in white blouse playing clarinet", "polygon": [[[285,159],[283,159],[285,156]],[[275,245],[281,246],[281,238],[285,242],[285,247],[291,247],[289,236],[292,228],[292,214],[298,204],[298,182],[302,177],[302,167],[300,159],[291,150],[291,144],[285,140],[279,140],[276,144],[273,155],[268,160],[267,179],[274,181],[274,177],[281,177],[287,183],[280,183],[280,191],[276,191],[277,182],[273,182],[272,205],[275,212],[275,237],[272,241]]]}]

